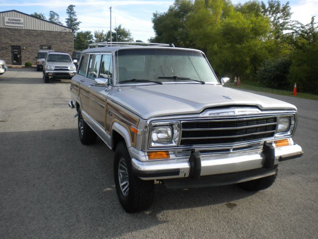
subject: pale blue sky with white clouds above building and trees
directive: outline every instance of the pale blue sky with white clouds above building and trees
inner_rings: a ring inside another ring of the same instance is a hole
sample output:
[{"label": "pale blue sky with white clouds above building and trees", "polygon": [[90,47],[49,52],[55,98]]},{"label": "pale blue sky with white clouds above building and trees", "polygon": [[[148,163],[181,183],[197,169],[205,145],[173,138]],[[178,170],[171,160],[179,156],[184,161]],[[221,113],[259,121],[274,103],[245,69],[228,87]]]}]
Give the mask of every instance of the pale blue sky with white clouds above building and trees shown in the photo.
[{"label": "pale blue sky with white clouds above building and trees", "polygon": [[[264,0],[267,2],[267,0]],[[79,30],[95,31],[110,29],[110,10],[112,7],[112,29],[119,24],[130,30],[134,40],[148,41],[155,36],[153,13],[165,12],[172,5],[173,0],[0,0],[0,11],[18,10],[27,14],[33,12],[44,13],[48,18],[50,10],[60,15],[60,21],[65,24],[68,5],[76,5],[75,11],[81,21]],[[246,0],[232,0],[234,4],[244,3]],[[285,4],[287,1],[282,0]],[[290,0],[292,19],[304,24],[310,23],[312,16],[317,16],[318,0]]]}]

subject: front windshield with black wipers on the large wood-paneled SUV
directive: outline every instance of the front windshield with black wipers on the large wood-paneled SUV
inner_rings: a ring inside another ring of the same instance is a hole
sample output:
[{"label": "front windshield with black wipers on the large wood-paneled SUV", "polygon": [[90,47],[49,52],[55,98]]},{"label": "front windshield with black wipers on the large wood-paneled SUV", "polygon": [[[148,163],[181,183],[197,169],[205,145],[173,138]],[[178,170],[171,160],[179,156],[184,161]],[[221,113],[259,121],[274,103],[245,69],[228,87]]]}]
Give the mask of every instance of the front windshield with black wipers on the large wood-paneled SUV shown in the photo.
[{"label": "front windshield with black wipers on the large wood-paneled SUV", "polygon": [[115,56],[117,79],[121,84],[219,83],[200,52],[134,49],[120,50]]}]

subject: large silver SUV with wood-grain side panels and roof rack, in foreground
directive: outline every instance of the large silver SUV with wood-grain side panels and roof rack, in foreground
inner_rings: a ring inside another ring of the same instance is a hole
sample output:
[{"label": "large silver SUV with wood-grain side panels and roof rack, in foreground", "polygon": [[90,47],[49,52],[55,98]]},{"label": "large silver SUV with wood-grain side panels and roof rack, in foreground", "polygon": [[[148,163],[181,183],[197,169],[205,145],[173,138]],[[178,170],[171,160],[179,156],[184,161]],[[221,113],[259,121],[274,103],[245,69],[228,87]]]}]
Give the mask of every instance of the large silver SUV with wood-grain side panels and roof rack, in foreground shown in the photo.
[{"label": "large silver SUV with wood-grain side panels and roof rack, in foreground", "polygon": [[173,45],[97,44],[82,52],[69,103],[79,139],[114,153],[127,212],[148,208],[154,180],[167,188],[271,186],[278,164],[303,152],[295,106],[224,87],[206,56]]}]

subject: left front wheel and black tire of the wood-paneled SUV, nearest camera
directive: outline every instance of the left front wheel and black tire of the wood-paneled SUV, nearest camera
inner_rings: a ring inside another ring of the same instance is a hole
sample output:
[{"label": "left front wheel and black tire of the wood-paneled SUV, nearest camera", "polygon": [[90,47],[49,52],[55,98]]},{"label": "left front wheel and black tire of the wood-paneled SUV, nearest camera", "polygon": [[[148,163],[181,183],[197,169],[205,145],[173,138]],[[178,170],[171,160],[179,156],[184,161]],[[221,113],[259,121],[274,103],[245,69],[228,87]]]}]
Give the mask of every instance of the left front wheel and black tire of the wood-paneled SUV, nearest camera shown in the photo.
[{"label": "left front wheel and black tire of the wood-paneled SUV, nearest camera", "polygon": [[132,172],[126,143],[117,144],[114,155],[114,180],[121,206],[128,213],[149,208],[154,201],[154,181],[141,180]]}]

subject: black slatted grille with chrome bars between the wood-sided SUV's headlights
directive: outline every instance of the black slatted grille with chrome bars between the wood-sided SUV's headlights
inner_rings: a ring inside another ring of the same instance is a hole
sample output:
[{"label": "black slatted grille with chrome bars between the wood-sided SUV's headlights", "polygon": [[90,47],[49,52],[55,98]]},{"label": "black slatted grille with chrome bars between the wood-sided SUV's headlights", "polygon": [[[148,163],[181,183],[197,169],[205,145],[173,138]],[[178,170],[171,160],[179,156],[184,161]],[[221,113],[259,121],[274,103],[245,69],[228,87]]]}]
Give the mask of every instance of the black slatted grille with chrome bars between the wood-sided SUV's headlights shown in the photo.
[{"label": "black slatted grille with chrome bars between the wood-sided SUV's headlights", "polygon": [[230,144],[274,137],[277,117],[195,120],[181,125],[181,146]]}]

